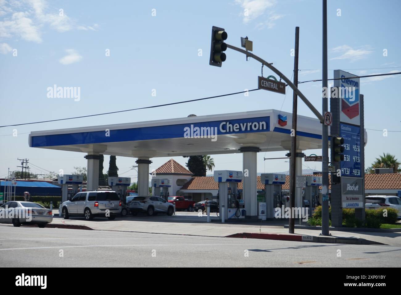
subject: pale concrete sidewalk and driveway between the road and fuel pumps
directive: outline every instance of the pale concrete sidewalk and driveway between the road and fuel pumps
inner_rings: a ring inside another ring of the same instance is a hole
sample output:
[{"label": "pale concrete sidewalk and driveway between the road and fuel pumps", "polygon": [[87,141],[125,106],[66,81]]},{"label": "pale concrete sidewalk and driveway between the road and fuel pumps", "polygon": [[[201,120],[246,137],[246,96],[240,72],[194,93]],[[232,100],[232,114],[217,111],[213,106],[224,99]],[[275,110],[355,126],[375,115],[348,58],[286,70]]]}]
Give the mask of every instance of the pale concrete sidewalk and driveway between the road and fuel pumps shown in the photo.
[{"label": "pale concrete sidewalk and driveway between the road and fuel pumps", "polygon": [[[57,225],[63,226],[86,226],[93,230],[112,230],[120,232],[144,232],[155,234],[177,234],[177,235],[194,235],[194,236],[215,236],[227,237],[235,234],[253,233],[253,234],[282,234],[289,235],[288,229],[284,228],[284,224],[288,224],[286,220],[274,221],[241,221],[228,222],[222,224],[217,222],[217,216],[213,216],[214,222],[207,222],[207,217],[204,215],[199,217],[196,212],[177,212],[176,215],[166,216],[160,214],[158,216],[128,215],[126,217],[118,216],[115,220],[107,218],[94,218],[91,221],[84,220],[83,217],[71,217],[69,220],[64,220],[58,217],[58,210],[53,210],[55,216],[53,218],[52,227]],[[57,214],[56,214],[57,213]],[[342,238],[364,239],[380,244],[391,246],[401,246],[400,232],[342,232],[331,231],[332,242],[346,243]],[[310,229],[295,229],[296,236],[311,236],[312,241],[329,242],[322,240],[319,236],[320,231]],[[245,237],[245,236],[243,236]],[[285,239],[285,237],[284,237]],[[302,239],[301,239],[302,240]],[[307,240],[307,239],[306,239]],[[311,240],[309,240],[311,241]],[[350,242],[351,244],[360,244],[361,242]]]}]

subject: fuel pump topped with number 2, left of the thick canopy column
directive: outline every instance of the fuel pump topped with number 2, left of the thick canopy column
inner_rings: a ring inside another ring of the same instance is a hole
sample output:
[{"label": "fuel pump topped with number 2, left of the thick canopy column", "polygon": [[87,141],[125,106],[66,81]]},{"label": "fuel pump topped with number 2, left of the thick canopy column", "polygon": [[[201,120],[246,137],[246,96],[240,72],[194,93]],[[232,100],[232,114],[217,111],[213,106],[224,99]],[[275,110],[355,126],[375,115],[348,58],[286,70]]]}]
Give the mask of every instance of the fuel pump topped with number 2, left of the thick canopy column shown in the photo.
[{"label": "fuel pump topped with number 2, left of the thick canopy column", "polygon": [[[219,183],[219,218],[245,218],[245,203],[237,189],[237,183],[242,181],[242,171],[219,170],[214,172],[215,181]],[[224,208],[223,208],[224,205]]]}]

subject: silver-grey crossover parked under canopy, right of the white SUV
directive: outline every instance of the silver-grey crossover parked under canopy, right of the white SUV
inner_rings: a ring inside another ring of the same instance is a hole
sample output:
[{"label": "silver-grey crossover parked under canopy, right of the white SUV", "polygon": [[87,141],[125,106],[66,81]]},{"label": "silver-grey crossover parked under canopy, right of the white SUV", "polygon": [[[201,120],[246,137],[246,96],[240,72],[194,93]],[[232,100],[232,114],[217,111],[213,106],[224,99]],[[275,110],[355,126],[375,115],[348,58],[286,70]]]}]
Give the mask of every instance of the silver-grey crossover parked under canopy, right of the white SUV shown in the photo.
[{"label": "silver-grey crossover parked under canopy, right of the white SUV", "polygon": [[171,216],[174,213],[174,207],[171,203],[161,197],[151,195],[134,197],[130,201],[129,208],[132,215],[146,212],[149,216],[158,213],[167,213],[168,216]]}]

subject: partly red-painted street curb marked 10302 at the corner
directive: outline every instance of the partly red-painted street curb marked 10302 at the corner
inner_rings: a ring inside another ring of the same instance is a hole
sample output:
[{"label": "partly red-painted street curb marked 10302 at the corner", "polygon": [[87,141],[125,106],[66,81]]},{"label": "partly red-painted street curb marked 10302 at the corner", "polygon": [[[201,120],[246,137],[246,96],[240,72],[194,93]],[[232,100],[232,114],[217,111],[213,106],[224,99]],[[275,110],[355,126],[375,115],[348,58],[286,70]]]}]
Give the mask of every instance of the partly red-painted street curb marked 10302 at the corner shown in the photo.
[{"label": "partly red-painted street curb marked 10302 at the corner", "polygon": [[265,239],[265,240],[284,240],[295,242],[314,242],[314,243],[332,243],[332,244],[358,244],[358,245],[386,245],[380,242],[370,241],[363,238],[338,238],[332,236],[302,236],[291,234],[259,234],[242,232],[231,234],[226,238],[249,238],[249,239]]}]

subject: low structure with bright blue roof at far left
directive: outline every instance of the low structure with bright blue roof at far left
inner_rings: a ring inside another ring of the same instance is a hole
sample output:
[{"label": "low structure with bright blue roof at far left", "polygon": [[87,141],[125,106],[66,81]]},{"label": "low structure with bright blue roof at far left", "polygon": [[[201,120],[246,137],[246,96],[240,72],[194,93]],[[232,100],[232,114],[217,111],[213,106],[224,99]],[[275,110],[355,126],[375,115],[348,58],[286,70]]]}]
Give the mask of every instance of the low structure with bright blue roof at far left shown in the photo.
[{"label": "low structure with bright blue roof at far left", "polygon": [[[45,182],[45,181],[16,181],[15,195],[24,195],[25,191],[29,191],[31,196],[49,195],[61,196],[61,187]],[[9,185],[10,181],[0,181],[0,192],[4,192],[4,185]]]}]

